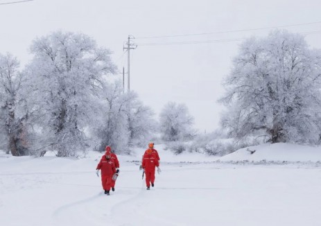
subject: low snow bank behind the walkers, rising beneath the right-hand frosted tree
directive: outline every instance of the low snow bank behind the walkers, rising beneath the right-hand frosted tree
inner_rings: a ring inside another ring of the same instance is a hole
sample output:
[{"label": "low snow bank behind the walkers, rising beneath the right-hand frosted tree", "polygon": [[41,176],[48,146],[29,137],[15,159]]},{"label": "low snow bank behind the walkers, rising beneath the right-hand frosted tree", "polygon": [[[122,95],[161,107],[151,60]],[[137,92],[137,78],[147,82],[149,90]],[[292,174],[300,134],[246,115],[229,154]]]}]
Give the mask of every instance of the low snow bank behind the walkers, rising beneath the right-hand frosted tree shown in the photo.
[{"label": "low snow bank behind the walkers, rising beneath the right-hand frosted tree", "polygon": [[[303,146],[298,144],[263,144],[241,148],[223,157],[209,156],[201,153],[184,152],[175,155],[171,150],[164,150],[164,145],[156,145],[161,162],[321,162],[321,147]],[[253,154],[250,151],[255,150]],[[123,157],[127,161],[141,161],[144,149],[136,148],[135,156]]]}]

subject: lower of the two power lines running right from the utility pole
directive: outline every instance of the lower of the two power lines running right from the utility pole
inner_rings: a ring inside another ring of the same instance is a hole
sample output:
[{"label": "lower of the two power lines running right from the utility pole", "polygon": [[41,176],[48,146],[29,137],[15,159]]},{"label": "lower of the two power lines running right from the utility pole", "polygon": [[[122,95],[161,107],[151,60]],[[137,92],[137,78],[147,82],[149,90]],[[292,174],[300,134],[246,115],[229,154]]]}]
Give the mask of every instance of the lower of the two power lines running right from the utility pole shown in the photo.
[{"label": "lower of the two power lines running right from the utility pole", "polygon": [[[309,31],[304,33],[299,33],[302,35],[313,35],[321,33],[321,31]],[[263,36],[257,36],[262,38]],[[137,46],[168,46],[168,45],[177,45],[177,44],[206,44],[206,43],[215,43],[215,42],[238,42],[242,40],[247,40],[248,37],[240,37],[233,39],[223,39],[223,40],[203,40],[203,41],[189,41],[189,42],[151,42],[151,43],[136,43]]]}]

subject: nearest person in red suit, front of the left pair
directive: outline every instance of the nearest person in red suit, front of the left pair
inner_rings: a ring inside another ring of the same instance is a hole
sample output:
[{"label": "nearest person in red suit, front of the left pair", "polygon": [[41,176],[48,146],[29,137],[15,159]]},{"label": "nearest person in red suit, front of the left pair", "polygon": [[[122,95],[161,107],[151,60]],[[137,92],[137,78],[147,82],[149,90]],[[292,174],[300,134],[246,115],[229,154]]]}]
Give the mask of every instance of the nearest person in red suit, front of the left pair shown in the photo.
[{"label": "nearest person in red suit, front of the left pair", "polygon": [[99,176],[101,170],[101,184],[105,190],[106,195],[110,195],[110,188],[112,187],[112,176],[116,173],[116,166],[112,160],[112,153],[106,151],[105,155],[101,157],[101,161],[96,167],[96,174]]}]

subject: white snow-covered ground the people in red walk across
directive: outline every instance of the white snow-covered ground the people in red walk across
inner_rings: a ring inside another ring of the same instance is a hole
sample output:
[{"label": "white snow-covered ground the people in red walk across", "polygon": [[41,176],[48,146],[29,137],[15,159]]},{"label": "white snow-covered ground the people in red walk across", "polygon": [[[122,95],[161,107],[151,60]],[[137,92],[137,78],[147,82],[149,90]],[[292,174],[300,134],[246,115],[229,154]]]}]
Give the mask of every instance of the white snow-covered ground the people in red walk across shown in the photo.
[{"label": "white snow-covered ground the people in red walk across", "polygon": [[99,153],[0,152],[0,225],[320,225],[321,148],[275,144],[220,158],[156,149],[155,188],[146,191],[141,180],[138,149],[136,157],[119,156],[110,196],[95,174]]}]

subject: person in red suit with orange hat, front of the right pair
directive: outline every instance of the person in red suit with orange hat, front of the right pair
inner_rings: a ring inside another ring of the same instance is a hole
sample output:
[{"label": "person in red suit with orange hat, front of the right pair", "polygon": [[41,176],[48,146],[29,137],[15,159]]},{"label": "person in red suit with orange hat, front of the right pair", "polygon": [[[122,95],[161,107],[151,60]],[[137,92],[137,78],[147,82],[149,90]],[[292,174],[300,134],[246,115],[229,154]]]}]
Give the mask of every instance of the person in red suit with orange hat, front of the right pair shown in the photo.
[{"label": "person in red suit with orange hat, front of the right pair", "polygon": [[144,169],[146,175],[146,186],[147,190],[150,190],[150,184],[154,186],[155,182],[155,168],[157,167],[158,173],[161,172],[159,168],[159,162],[157,159],[157,155],[153,153],[152,148],[148,148],[146,150],[146,154],[144,154],[143,162],[141,163],[142,168]]}]

